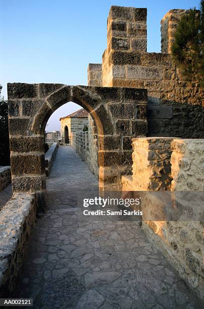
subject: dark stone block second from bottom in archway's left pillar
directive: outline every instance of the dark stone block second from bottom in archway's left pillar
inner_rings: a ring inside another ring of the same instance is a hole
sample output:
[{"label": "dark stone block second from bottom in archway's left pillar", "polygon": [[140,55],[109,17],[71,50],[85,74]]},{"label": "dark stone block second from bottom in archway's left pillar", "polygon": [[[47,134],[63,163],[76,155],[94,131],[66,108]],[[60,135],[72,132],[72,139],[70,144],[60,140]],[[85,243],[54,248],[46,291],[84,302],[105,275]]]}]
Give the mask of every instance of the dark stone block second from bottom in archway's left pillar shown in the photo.
[{"label": "dark stone block second from bottom in archway's left pillar", "polygon": [[11,170],[13,175],[44,174],[44,155],[11,156]]}]

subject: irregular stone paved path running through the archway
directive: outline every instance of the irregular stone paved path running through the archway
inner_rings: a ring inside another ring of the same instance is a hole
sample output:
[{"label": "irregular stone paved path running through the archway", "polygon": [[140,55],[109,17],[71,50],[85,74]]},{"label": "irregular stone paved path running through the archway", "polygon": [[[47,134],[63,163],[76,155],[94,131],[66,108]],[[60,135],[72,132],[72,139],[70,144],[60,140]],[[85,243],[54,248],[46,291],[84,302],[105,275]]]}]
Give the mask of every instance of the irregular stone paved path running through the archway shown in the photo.
[{"label": "irregular stone paved path running through the archway", "polygon": [[16,297],[43,309],[201,308],[139,224],[79,219],[76,191],[94,185],[74,150],[60,146]]}]

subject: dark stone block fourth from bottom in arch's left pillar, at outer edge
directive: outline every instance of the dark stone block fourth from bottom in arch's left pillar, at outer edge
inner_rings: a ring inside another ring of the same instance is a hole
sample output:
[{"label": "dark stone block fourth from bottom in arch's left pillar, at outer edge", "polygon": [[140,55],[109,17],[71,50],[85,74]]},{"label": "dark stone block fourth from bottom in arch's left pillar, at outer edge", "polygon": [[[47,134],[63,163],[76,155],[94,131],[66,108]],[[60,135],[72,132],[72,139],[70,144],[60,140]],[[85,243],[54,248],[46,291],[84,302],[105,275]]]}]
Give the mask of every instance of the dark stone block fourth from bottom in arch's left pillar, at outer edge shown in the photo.
[{"label": "dark stone block fourth from bottom in arch's left pillar, at outer edge", "polygon": [[28,135],[28,125],[30,119],[28,118],[10,118],[9,119],[9,133],[10,135]]}]

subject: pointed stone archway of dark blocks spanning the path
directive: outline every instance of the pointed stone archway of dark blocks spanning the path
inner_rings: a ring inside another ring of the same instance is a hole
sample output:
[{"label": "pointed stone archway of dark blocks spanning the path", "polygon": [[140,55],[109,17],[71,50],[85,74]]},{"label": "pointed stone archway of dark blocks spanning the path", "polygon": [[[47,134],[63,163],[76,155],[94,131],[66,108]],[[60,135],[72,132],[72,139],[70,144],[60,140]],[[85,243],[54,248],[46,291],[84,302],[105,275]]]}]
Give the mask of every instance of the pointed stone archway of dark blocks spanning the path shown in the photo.
[{"label": "pointed stone archway of dark blocks spanning the path", "polygon": [[37,203],[46,203],[44,129],[69,101],[96,124],[100,190],[121,189],[121,176],[131,174],[131,139],[147,131],[146,89],[9,83],[8,100],[14,192],[35,192]]}]

